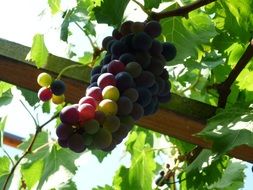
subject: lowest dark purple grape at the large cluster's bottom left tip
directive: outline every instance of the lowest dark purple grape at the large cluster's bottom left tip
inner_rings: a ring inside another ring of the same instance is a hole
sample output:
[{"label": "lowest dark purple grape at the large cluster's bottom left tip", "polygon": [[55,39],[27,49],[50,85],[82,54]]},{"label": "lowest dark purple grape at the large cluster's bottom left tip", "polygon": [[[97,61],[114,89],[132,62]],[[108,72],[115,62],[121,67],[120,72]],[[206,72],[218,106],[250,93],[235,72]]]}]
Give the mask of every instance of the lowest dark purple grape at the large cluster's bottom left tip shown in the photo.
[{"label": "lowest dark purple grape at the large cluster's bottom left tip", "polygon": [[68,147],[70,150],[76,153],[85,151],[86,146],[82,135],[75,133],[68,139]]}]

